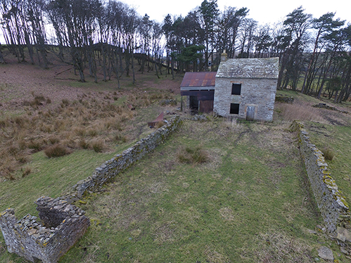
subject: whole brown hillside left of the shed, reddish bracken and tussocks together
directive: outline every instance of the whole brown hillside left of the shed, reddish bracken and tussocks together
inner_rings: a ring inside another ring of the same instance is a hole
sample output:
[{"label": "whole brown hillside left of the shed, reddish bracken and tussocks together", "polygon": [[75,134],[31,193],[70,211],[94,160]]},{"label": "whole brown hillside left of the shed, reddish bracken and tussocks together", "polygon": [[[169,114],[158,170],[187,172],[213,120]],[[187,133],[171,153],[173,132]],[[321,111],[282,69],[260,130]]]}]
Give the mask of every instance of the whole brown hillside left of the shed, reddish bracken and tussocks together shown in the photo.
[{"label": "whole brown hillside left of the shed, reddish bracken and tussocks together", "polygon": [[[140,131],[130,120],[138,115],[138,109],[173,99],[174,93],[169,91],[179,85],[179,80],[165,79],[159,84],[139,82],[133,89],[115,90],[111,81],[101,84],[104,91],[99,91],[101,87],[92,82],[77,86],[79,82],[72,81],[73,70],[66,70],[69,67],[56,58],[51,60],[55,64],[49,70],[18,64],[11,58],[1,65],[0,181],[30,174],[30,156],[41,150],[49,158],[78,148],[100,153],[116,143],[136,139]],[[120,82],[130,85],[130,79],[121,78]],[[155,86],[155,91],[146,91],[146,86]],[[128,105],[133,105],[133,110]]]}]

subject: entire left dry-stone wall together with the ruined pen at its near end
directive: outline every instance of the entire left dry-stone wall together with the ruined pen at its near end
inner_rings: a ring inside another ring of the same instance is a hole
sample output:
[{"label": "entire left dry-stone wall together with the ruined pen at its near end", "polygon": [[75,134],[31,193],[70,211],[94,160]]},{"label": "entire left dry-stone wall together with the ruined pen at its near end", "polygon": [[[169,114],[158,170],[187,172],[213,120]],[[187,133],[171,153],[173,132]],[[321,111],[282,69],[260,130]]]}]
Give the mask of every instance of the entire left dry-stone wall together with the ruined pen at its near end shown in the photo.
[{"label": "entire left dry-stone wall together with the ruined pen at its near end", "polygon": [[15,252],[31,262],[37,262],[37,259],[41,259],[43,263],[58,262],[90,225],[89,218],[84,216],[85,212],[71,205],[71,201],[82,198],[87,191],[95,191],[146,153],[154,150],[180,123],[179,115],[172,117],[170,122],[145,139],[96,168],[91,177],[79,181],[72,187],[72,191],[65,193],[63,197],[39,198],[35,203],[42,223],[37,222],[37,217],[30,214],[18,221],[12,208],[1,212],[0,228],[8,252]]}]

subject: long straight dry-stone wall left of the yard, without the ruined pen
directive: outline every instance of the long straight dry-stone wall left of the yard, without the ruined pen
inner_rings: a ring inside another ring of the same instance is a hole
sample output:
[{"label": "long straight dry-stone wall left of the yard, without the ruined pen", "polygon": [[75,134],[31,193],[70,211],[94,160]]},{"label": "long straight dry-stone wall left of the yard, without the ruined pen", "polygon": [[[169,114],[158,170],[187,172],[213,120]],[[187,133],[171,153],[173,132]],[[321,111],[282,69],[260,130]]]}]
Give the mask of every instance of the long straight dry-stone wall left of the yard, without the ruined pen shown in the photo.
[{"label": "long straight dry-stone wall left of the yard, without the ruined pen", "polygon": [[181,123],[179,115],[172,117],[170,122],[163,125],[146,138],[141,139],[134,146],[117,154],[112,159],[95,169],[91,177],[81,180],[72,187],[68,196],[70,198],[82,198],[87,191],[95,191],[106,182],[113,179],[117,174],[130,167],[134,162],[141,159],[146,153],[150,153]]}]

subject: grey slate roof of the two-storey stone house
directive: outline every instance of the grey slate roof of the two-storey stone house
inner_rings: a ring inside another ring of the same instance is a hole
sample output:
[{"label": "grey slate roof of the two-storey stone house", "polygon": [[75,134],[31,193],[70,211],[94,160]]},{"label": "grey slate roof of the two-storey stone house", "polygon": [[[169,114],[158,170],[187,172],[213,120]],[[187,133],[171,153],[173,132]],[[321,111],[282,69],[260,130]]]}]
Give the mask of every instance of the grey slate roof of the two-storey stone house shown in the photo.
[{"label": "grey slate roof of the two-storey stone house", "polygon": [[279,58],[228,58],[219,65],[216,77],[278,79]]}]

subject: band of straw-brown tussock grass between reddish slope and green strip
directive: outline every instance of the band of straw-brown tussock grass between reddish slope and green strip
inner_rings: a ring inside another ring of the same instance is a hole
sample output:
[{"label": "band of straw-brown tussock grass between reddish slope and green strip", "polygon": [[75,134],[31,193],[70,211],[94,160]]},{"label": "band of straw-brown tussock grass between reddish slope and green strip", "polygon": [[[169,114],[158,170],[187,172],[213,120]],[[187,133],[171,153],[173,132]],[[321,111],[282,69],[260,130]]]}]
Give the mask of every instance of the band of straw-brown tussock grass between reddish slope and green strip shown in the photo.
[{"label": "band of straw-brown tussock grass between reddish slope and green strip", "polygon": [[[117,95],[120,93],[115,91],[87,93],[78,96],[76,101],[64,98],[56,108],[46,108],[50,98],[33,94],[32,101],[24,103],[31,107],[25,113],[0,117],[0,158],[6,156],[6,163],[0,162],[0,170],[6,171],[0,174],[0,180],[10,178],[10,174],[11,179],[15,179],[15,171],[30,160],[32,153],[43,149],[51,157],[63,154],[62,149],[58,153],[58,145],[68,146],[70,150],[83,148],[101,152],[114,147],[116,141],[127,143],[134,139],[134,135],[127,136],[125,130],[135,129],[130,122],[137,112],[127,104],[146,107],[153,94],[135,91],[125,96],[121,104],[119,99],[114,99]],[[159,97],[167,96],[160,92]],[[53,145],[56,146],[51,147]]]}]

